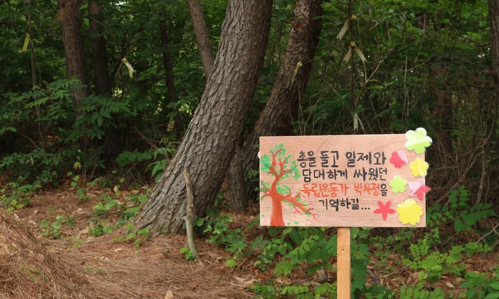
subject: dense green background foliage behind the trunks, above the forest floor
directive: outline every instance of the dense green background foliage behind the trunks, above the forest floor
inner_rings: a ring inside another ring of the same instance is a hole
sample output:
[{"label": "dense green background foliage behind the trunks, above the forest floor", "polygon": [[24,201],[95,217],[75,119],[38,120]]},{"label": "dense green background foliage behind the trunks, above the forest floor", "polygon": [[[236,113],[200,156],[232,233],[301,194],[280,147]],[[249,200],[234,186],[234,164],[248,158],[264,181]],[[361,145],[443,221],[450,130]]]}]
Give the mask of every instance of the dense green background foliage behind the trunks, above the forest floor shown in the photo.
[{"label": "dense green background foliage behind the trunks, above the forest floor", "polygon": [[[86,5],[81,7],[81,30],[92,91],[90,49],[96,33],[90,31]],[[174,153],[179,142],[175,116],[180,115],[185,129],[205,79],[187,5],[182,1],[102,5],[101,35],[113,95],[91,95],[75,107],[70,89],[77,86],[74,79],[65,78],[56,3],[2,4],[0,170],[11,180],[57,184],[67,171],[105,173],[109,163],[103,157],[103,139],[108,128],[117,128],[120,140],[121,154],[112,165],[129,181],[148,180],[151,171],[154,176],[161,174]],[[225,1],[203,3],[214,51],[225,5]],[[286,49],[293,6],[293,1],[274,4],[271,42],[246,132],[252,130],[269,97]],[[430,177],[434,198],[444,198],[465,180],[480,197],[494,192],[490,182],[497,177],[493,167],[497,103],[486,3],[342,1],[324,2],[323,9],[322,35],[294,132],[399,133],[424,126],[436,141],[427,158],[438,169]],[[356,18],[338,40],[349,9]],[[164,46],[159,36],[162,22],[168,34]],[[23,52],[27,32],[29,46]],[[351,42],[366,62],[358,54],[344,62]],[[164,51],[173,59],[176,102],[166,92]],[[136,70],[133,78],[123,58]],[[159,149],[151,149],[147,141]],[[71,170],[73,166],[81,169]]]}]

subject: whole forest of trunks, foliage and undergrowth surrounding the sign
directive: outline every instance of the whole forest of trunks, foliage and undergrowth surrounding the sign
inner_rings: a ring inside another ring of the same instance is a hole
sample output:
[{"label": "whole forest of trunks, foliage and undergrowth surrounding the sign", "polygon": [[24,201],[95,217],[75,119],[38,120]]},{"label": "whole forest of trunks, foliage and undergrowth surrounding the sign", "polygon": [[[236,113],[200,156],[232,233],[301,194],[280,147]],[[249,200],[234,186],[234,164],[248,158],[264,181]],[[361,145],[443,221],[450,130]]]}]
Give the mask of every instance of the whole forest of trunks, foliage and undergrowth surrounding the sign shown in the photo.
[{"label": "whole forest of trunks, foliage and undergrowth surrounding the sign", "polygon": [[[187,2],[0,3],[6,210],[69,188],[93,203],[88,234],[126,226],[140,246],[146,235],[182,231],[185,195],[170,195],[185,193],[186,167],[197,237],[227,249],[227,267],[272,273],[250,291],[334,296],[334,229],[255,233],[257,220],[244,229],[228,214],[256,216],[256,137],[424,127],[434,141],[427,228],[354,229],[352,292],[499,297],[495,1]],[[203,25],[204,40],[194,30]],[[217,94],[215,85],[235,91]],[[213,129],[195,131],[202,124]],[[155,188],[117,199],[145,185]],[[96,186],[105,196],[88,195]],[[34,229],[63,238],[67,217]],[[390,284],[394,271],[416,278]],[[299,273],[320,279],[282,278]]]}]

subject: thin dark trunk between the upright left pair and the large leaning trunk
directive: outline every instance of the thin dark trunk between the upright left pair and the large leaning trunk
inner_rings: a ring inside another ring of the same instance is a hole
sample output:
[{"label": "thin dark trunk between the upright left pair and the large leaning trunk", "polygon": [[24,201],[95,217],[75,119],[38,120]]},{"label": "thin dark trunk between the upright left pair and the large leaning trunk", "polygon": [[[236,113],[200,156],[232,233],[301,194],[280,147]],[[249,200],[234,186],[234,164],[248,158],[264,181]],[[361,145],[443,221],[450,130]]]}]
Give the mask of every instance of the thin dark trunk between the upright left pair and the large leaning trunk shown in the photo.
[{"label": "thin dark trunk between the upright left pair and the large leaning trunk", "polygon": [[[165,48],[168,46],[168,32],[166,29],[166,24],[161,21],[159,24],[159,33],[161,34],[161,45]],[[175,96],[175,84],[173,78],[173,63],[170,51],[163,51],[163,65],[165,67],[166,73],[166,88],[168,89],[168,101],[170,103],[176,103]],[[180,117],[179,109],[175,108],[175,133],[178,141],[182,139],[183,124],[182,118]]]}]

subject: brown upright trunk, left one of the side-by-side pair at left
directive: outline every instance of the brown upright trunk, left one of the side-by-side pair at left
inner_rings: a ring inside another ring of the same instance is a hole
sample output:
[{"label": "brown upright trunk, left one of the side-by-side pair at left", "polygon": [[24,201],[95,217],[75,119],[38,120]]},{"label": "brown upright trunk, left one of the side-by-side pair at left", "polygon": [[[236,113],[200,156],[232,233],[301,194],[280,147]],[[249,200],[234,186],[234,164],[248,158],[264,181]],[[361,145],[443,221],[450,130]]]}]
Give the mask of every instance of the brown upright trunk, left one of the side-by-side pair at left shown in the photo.
[{"label": "brown upright trunk, left one of the side-by-side pair at left", "polygon": [[[85,55],[83,52],[83,39],[81,36],[82,0],[57,0],[59,3],[59,17],[62,25],[62,39],[66,54],[67,78],[80,80],[88,85],[85,72]],[[73,104],[78,106],[79,101],[88,95],[87,88],[72,91]]]}]

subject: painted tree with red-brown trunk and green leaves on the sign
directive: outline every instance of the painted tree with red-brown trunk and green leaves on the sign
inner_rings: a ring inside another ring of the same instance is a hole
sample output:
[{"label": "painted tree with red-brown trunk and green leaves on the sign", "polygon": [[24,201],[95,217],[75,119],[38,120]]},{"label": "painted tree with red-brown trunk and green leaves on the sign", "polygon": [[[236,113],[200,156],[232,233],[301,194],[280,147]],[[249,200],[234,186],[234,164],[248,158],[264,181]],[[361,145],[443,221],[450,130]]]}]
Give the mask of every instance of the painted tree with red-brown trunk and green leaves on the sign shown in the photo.
[{"label": "painted tree with red-brown trunk and green leaves on the sign", "polygon": [[293,213],[310,215],[315,220],[318,220],[318,214],[314,213],[313,205],[303,202],[300,192],[293,194],[290,186],[280,183],[281,180],[286,178],[294,180],[300,178],[296,161],[290,161],[291,157],[291,155],[286,155],[286,149],[284,149],[284,145],[281,143],[270,150],[270,156],[265,154],[260,158],[261,171],[274,177],[272,183],[263,180],[260,182],[261,199],[263,200],[265,197],[272,199],[271,226],[284,226],[284,219],[282,217],[282,203],[284,202],[287,202],[294,208]]}]

